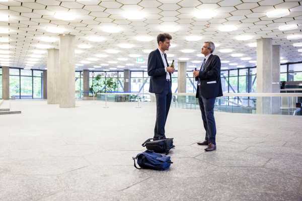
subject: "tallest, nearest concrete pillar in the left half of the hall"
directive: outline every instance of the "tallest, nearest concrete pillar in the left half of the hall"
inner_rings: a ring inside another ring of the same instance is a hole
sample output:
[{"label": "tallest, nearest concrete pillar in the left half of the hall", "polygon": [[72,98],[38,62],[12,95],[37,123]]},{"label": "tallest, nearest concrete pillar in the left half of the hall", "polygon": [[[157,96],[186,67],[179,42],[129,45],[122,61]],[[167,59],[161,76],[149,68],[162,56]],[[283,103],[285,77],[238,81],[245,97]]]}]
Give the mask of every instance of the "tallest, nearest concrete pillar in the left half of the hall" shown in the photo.
[{"label": "tallest, nearest concrete pillar in the left half of the hall", "polygon": [[60,108],[75,107],[74,36],[60,35]]}]

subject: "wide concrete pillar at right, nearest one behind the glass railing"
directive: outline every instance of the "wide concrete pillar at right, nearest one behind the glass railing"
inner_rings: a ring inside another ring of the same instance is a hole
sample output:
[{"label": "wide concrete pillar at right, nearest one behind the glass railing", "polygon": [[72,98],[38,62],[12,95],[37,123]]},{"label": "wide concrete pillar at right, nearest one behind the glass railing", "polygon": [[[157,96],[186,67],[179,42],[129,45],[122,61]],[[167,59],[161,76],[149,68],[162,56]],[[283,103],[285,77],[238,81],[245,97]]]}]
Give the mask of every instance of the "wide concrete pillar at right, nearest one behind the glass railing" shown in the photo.
[{"label": "wide concrete pillar at right, nearest one behind the glass railing", "polygon": [[[257,39],[257,92],[272,92],[273,46],[271,38]],[[272,114],[271,97],[257,98],[257,113]]]}]

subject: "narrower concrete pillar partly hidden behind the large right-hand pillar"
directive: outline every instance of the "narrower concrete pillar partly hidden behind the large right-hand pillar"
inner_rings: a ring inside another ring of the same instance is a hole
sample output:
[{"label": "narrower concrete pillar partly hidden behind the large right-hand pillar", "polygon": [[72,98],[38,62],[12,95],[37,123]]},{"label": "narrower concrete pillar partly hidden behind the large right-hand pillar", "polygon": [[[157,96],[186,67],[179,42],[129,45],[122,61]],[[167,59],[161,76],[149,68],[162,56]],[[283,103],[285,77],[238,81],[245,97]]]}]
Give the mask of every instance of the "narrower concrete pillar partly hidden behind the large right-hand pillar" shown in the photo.
[{"label": "narrower concrete pillar partly hidden behind the large right-hand pillar", "polygon": [[[280,45],[273,45],[272,56],[272,92],[280,92]],[[280,114],[281,97],[272,97],[272,114]]]}]

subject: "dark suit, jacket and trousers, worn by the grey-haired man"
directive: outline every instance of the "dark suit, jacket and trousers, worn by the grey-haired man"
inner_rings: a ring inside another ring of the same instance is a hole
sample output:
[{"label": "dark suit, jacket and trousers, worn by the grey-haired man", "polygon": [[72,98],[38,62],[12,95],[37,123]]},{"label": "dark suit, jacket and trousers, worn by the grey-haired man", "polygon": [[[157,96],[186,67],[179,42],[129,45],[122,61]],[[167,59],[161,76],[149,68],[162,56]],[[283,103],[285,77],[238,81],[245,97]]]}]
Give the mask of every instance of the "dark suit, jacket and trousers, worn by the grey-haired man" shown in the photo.
[{"label": "dark suit, jacket and trousers, worn by the grey-haired man", "polygon": [[196,97],[198,98],[203,126],[206,131],[205,140],[216,144],[216,125],[214,104],[216,97],[222,96],[220,80],[221,63],[217,55],[210,55],[199,71]]}]

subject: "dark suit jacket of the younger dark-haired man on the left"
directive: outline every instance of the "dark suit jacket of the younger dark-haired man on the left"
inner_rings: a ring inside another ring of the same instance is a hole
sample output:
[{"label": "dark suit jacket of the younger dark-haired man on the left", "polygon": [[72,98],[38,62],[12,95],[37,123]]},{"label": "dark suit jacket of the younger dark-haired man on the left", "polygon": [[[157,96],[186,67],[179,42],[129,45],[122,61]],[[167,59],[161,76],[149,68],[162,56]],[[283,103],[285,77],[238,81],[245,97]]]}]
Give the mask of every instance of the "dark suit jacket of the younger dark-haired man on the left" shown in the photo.
[{"label": "dark suit jacket of the younger dark-haired man on the left", "polygon": [[[167,59],[166,62],[168,64]],[[170,81],[172,81],[171,73],[169,74],[170,74]],[[165,65],[159,49],[150,52],[148,56],[148,75],[150,76],[149,92],[150,93],[163,92],[164,86],[167,81],[166,80],[167,72],[165,71]]]}]

